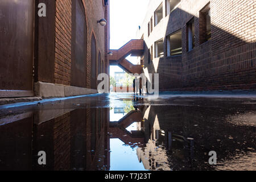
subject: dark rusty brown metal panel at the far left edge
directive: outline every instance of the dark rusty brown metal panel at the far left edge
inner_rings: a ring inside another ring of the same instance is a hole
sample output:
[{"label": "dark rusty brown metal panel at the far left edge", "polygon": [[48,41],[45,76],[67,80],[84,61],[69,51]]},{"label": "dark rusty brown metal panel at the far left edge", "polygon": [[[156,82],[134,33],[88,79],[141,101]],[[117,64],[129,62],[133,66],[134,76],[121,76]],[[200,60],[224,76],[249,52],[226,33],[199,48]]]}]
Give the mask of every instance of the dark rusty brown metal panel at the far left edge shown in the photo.
[{"label": "dark rusty brown metal panel at the far left edge", "polygon": [[1,0],[0,24],[0,90],[32,90],[34,1]]}]

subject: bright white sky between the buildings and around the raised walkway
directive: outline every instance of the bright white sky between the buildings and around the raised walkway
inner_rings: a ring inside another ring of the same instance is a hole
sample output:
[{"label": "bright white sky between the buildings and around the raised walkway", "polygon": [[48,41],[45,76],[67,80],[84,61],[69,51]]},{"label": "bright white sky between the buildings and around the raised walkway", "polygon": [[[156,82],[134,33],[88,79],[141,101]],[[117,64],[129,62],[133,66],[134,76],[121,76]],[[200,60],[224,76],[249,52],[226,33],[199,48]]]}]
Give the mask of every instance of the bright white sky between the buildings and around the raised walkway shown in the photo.
[{"label": "bright white sky between the buildings and around the raised walkway", "polygon": [[[110,0],[110,49],[119,49],[131,39],[144,20],[150,0]],[[127,57],[136,64],[137,57]],[[110,76],[122,71],[118,66],[110,67]]]}]

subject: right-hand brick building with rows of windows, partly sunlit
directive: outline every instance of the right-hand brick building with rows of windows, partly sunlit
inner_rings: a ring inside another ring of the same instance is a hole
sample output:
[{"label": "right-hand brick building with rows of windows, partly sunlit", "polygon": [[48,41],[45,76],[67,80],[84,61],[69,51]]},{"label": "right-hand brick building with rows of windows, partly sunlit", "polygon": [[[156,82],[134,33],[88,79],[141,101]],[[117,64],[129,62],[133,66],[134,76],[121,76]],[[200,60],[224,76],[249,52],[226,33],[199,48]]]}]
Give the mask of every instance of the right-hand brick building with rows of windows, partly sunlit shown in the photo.
[{"label": "right-hand brick building with rows of windows, partly sunlit", "polygon": [[151,0],[137,38],[160,90],[256,89],[256,3]]}]

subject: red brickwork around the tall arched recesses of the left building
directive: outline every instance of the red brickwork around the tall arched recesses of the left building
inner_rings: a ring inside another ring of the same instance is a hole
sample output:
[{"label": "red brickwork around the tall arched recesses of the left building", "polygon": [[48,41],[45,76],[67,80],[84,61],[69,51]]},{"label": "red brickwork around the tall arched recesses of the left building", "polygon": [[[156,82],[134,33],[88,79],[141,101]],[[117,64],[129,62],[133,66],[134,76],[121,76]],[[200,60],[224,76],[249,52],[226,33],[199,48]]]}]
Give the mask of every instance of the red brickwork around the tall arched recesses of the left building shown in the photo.
[{"label": "red brickwork around the tall arched recesses of the left building", "polygon": [[[101,59],[105,64],[105,44],[109,44],[109,37],[105,36],[105,28],[97,23],[97,20],[105,18],[109,13],[104,1],[81,0],[86,17],[87,26],[87,54],[86,54],[86,87],[91,85],[91,39],[96,38],[96,53],[101,52]],[[106,12],[105,12],[106,9]],[[56,0],[55,13],[55,84],[71,85],[71,55],[72,55],[72,0]],[[106,62],[108,63],[108,61]],[[98,63],[96,63],[98,64]],[[96,65],[98,68],[98,65]],[[97,70],[97,75],[100,71]]]}]

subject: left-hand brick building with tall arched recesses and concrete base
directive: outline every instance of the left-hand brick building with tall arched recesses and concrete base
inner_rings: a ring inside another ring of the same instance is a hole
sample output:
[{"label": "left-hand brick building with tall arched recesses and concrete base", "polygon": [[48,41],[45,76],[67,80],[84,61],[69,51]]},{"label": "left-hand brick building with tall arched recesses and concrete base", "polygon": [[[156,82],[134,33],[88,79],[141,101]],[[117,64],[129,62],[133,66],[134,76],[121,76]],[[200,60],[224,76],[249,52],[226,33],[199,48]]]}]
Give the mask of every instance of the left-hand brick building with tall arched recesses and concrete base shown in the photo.
[{"label": "left-hand brick building with tall arched recesses and concrete base", "polygon": [[97,75],[109,74],[109,1],[3,0],[0,8],[0,98],[97,93]]}]

